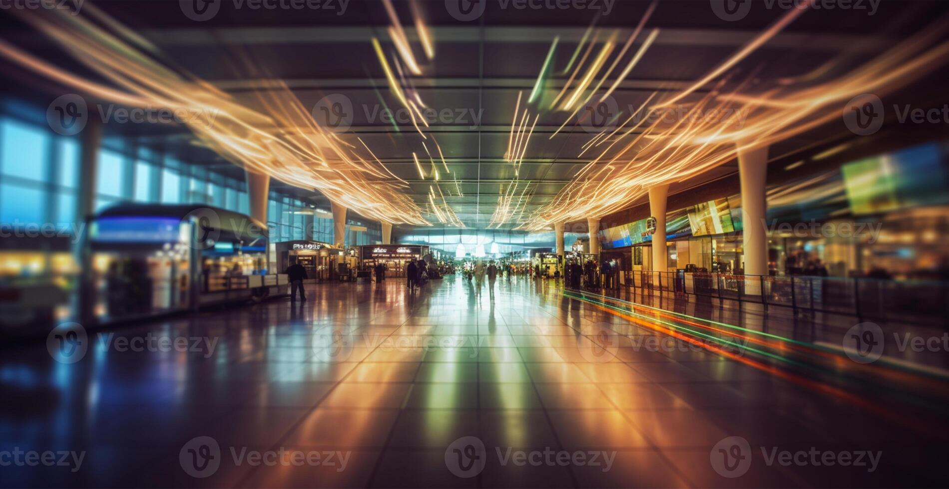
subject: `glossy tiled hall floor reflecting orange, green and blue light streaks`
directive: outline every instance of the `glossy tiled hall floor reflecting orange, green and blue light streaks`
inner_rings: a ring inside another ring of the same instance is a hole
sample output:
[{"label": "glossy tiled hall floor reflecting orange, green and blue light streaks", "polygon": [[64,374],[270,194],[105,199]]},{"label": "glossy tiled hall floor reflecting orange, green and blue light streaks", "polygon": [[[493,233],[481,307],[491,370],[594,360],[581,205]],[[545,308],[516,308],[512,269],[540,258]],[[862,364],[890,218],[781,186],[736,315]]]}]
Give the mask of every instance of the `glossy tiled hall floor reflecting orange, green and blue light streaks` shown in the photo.
[{"label": "glossy tiled hall floor reflecting orange, green and blue light streaks", "polygon": [[86,333],[74,363],[53,340],[3,351],[0,485],[947,482],[945,418],[916,398],[794,381],[552,281],[318,284]]}]

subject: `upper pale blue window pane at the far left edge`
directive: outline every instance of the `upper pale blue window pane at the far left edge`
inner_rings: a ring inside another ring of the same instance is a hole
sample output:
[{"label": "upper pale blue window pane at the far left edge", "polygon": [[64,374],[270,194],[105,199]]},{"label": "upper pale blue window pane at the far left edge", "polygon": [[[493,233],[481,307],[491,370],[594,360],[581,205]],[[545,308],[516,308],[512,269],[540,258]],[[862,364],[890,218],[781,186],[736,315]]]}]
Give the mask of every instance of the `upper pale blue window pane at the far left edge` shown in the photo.
[{"label": "upper pale blue window pane at the far left edge", "polygon": [[49,137],[49,133],[38,127],[4,120],[0,133],[3,173],[31,180],[46,180]]}]

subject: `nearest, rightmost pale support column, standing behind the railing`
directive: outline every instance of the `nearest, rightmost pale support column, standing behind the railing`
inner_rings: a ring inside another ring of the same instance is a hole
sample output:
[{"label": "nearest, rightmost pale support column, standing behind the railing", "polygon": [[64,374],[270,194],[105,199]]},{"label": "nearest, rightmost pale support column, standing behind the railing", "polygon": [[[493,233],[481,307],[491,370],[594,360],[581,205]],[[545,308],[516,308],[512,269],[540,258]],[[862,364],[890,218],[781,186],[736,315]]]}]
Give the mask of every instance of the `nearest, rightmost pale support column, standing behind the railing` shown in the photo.
[{"label": "nearest, rightmost pale support column, standing behind the railing", "polygon": [[767,217],[765,179],[767,175],[767,146],[747,151],[738,150],[745,275],[768,275],[768,236],[765,232]]}]

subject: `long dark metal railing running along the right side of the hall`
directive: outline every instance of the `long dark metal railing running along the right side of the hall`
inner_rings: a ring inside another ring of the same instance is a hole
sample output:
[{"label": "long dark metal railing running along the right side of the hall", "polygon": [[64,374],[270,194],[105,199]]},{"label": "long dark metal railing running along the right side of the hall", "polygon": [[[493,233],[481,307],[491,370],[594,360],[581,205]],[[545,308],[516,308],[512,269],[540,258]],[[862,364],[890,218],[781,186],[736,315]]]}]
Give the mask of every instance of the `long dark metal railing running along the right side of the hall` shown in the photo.
[{"label": "long dark metal railing running along the right side of the hall", "polygon": [[[601,280],[596,287],[604,290]],[[949,282],[893,281],[865,278],[726,275],[637,270],[619,280],[626,290],[642,294],[694,295],[790,307],[800,311],[866,319],[942,325],[949,328]],[[608,291],[608,289],[606,289]],[[618,289],[614,289],[618,290]]]}]

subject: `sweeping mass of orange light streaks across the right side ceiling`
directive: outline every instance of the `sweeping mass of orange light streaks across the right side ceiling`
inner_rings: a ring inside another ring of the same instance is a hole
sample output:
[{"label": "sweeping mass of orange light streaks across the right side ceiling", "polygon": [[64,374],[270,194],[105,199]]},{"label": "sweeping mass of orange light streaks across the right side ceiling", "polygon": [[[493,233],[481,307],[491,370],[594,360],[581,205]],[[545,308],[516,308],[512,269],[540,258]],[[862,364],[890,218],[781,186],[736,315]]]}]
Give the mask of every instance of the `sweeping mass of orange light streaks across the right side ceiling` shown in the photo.
[{"label": "sweeping mass of orange light streaks across the right side ceiling", "polygon": [[[641,198],[651,186],[679,182],[728,163],[739,149],[769,146],[822,127],[840,118],[840,107],[847,100],[864,93],[891,93],[949,60],[949,42],[942,38],[947,22],[941,18],[875,58],[855,62],[860,64],[849,71],[821,69],[816,77],[796,83],[785,78],[771,85],[765,84],[769,79],[759,69],[747,70],[742,80],[724,73],[791,18],[791,13],[786,14],[712,70],[710,75],[724,76],[706,93],[693,92],[715,77],[706,75],[700,84],[667,100],[645,104],[637,110],[642,115],[633,126],[625,128],[633,120],[631,115],[617,129],[623,132],[614,132],[620,136],[601,137],[592,146],[599,148],[610,139],[605,149],[519,228],[539,230],[551,223],[615,212]],[[670,100],[678,100],[677,107]],[[663,120],[666,114],[675,117]]]}]

